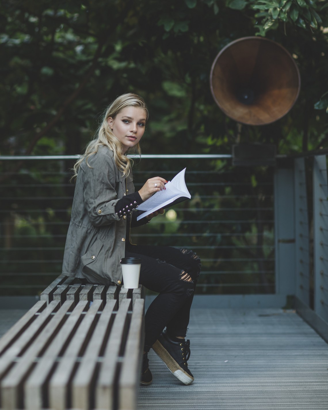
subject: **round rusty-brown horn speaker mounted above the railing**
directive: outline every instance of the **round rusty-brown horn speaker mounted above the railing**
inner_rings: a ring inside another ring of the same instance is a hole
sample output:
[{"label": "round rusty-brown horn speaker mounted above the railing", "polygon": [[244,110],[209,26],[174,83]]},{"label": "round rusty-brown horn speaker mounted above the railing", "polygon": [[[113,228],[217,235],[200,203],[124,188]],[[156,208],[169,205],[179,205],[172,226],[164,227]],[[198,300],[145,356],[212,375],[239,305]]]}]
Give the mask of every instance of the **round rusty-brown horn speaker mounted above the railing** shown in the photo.
[{"label": "round rusty-brown horn speaker mounted above the railing", "polygon": [[214,100],[230,118],[264,125],[292,108],[301,78],[294,59],[280,44],[262,37],[243,37],[216,56],[210,83]]}]

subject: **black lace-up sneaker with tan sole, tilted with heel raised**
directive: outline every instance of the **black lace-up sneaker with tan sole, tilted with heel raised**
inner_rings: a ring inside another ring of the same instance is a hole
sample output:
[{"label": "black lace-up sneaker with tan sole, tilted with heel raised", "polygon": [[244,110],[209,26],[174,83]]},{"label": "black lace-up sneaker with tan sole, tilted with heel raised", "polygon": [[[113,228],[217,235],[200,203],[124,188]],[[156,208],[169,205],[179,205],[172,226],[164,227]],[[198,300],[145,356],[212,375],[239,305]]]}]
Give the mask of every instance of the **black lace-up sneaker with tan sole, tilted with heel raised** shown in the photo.
[{"label": "black lace-up sneaker with tan sole, tilted with heel raised", "polygon": [[194,376],[188,369],[187,364],[187,360],[190,357],[189,340],[181,339],[181,342],[175,342],[164,330],[153,344],[153,350],[182,383],[189,385],[194,381]]}]

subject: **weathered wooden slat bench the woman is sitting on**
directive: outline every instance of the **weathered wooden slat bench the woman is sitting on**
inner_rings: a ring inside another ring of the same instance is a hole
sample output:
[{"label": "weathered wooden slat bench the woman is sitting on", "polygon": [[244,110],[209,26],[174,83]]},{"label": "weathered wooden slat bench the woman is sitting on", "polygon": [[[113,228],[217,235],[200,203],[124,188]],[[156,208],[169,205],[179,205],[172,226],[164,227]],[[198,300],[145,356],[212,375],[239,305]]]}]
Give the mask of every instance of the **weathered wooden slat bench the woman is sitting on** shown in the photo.
[{"label": "weathered wooden slat bench the woman is sitting on", "polygon": [[143,292],[59,276],[0,339],[0,409],[135,409]]}]

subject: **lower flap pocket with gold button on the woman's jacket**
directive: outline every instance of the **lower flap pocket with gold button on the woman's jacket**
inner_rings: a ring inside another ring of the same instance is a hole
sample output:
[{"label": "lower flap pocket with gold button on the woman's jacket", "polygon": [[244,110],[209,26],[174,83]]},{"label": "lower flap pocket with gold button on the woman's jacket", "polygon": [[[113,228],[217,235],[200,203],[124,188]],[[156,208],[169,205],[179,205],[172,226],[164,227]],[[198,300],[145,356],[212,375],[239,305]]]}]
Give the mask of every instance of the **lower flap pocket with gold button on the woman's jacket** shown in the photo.
[{"label": "lower flap pocket with gold button on the woman's jacket", "polygon": [[90,283],[106,285],[108,278],[103,276],[104,244],[99,239],[81,256],[82,272]]}]

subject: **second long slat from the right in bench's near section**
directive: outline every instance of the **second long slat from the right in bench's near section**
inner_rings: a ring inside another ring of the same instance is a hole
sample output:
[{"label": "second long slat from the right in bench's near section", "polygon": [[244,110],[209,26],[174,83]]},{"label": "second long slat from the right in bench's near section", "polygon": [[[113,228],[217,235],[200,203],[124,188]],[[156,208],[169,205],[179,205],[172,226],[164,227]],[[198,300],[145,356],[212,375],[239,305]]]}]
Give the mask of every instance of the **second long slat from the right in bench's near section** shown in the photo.
[{"label": "second long slat from the right in bench's near section", "polygon": [[126,333],[128,331],[128,310],[130,309],[131,299],[121,301],[112,330],[109,335],[105,349],[103,363],[100,364],[100,372],[96,385],[96,409],[115,408],[118,392],[116,388],[116,367],[118,355],[123,350]]}]

